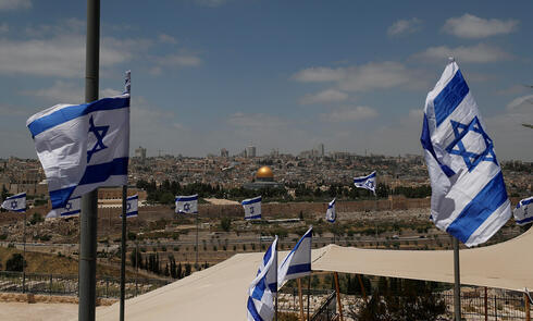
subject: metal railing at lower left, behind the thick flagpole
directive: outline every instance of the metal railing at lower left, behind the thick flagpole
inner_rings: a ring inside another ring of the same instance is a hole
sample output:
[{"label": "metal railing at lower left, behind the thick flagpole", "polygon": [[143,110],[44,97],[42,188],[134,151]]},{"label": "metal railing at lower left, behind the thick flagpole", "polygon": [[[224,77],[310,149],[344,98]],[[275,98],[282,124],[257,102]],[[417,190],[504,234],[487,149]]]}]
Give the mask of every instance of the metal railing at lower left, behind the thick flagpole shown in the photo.
[{"label": "metal railing at lower left, behind the thick flagpole", "polygon": [[[78,295],[77,275],[26,273],[23,288],[23,273],[0,271],[0,292],[33,293],[47,295]],[[134,297],[169,284],[157,279],[126,279],[126,297]],[[104,276],[97,279],[97,297],[119,298],[120,279]]]}]

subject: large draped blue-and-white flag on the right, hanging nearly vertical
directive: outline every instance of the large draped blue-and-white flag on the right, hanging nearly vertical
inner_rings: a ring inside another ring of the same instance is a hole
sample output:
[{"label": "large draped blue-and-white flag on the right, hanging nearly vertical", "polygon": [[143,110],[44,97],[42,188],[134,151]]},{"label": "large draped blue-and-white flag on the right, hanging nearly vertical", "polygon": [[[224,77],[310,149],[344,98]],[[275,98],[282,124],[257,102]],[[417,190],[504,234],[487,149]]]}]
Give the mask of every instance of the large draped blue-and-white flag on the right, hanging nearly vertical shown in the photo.
[{"label": "large draped blue-and-white flag on the right, hanging nearly vertical", "polygon": [[451,61],[427,94],[420,140],[431,178],[431,219],[469,247],[489,239],[511,215],[485,128],[459,66]]}]

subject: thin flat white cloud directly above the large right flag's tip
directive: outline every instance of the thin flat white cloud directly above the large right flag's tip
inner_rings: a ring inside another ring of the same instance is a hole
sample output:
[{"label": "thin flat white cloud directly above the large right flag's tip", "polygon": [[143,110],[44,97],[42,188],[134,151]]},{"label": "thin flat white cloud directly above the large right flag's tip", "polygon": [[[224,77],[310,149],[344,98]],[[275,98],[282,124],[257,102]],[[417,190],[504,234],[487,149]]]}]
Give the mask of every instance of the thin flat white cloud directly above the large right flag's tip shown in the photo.
[{"label": "thin flat white cloud directly above the large right flag's tip", "polygon": [[413,54],[416,60],[441,61],[444,62],[448,57],[454,55],[459,62],[489,63],[512,59],[512,54],[501,48],[479,44],[475,46],[459,46],[449,48],[446,46],[431,47],[425,51]]}]

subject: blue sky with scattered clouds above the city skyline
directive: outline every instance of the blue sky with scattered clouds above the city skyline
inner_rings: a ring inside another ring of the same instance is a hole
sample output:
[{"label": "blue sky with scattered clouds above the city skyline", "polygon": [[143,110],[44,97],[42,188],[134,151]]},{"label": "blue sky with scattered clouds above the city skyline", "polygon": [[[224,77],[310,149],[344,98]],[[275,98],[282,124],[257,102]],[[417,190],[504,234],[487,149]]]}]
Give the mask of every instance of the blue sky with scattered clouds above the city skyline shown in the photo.
[{"label": "blue sky with scattered clouds above the city skyline", "polygon": [[[132,150],[252,144],[422,155],[427,91],[454,55],[500,160],[533,161],[533,1],[101,1],[100,97],[132,70]],[[0,0],[0,158],[84,101],[85,1]]]}]

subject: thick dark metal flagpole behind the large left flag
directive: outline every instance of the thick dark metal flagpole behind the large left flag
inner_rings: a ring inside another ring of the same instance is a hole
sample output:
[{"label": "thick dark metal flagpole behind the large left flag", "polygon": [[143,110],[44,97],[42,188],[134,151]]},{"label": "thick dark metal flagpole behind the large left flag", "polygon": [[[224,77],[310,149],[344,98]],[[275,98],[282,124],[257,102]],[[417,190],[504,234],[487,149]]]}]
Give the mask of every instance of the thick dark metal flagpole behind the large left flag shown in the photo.
[{"label": "thick dark metal flagpole behind the large left flag", "polygon": [[[87,0],[87,45],[85,101],[98,99],[100,60],[100,0]],[[79,305],[78,321],[94,321],[96,309],[96,252],[98,189],[82,197],[79,222]]]}]

